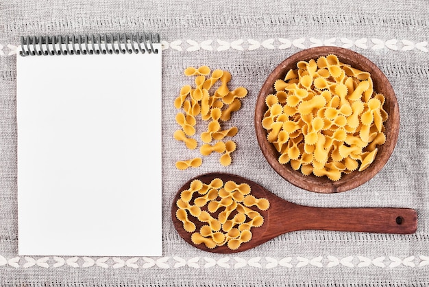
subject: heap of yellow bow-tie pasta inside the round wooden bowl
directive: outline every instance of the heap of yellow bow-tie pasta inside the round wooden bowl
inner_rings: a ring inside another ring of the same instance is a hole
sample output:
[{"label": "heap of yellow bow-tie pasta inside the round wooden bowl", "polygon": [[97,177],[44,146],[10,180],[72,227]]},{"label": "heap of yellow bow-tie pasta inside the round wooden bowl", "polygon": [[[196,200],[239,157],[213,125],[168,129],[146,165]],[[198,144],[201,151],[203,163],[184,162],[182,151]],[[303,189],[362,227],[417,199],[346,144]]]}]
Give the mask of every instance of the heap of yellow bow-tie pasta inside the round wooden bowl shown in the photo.
[{"label": "heap of yellow bow-tie pasta inside the round wooden bowl", "polygon": [[297,62],[274,89],[261,124],[280,163],[332,181],[371,165],[388,115],[368,72],[330,54]]}]

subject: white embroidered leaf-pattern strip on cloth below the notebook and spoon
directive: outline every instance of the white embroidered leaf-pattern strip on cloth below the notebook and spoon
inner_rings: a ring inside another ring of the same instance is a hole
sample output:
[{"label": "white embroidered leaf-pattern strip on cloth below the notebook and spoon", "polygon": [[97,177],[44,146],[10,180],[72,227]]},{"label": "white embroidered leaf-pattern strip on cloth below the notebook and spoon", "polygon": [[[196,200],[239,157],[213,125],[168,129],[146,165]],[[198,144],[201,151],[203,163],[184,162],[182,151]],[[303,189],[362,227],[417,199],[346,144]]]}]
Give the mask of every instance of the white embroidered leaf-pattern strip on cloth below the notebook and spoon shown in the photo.
[{"label": "white embroidered leaf-pattern strip on cloth below the notebook and spoon", "polygon": [[347,256],[343,258],[329,255],[328,257],[132,257],[122,259],[119,257],[12,257],[0,255],[0,268],[29,268],[38,266],[42,268],[59,268],[62,266],[73,268],[332,268],[346,266],[348,268],[364,268],[376,266],[379,268],[395,268],[406,266],[408,268],[421,268],[429,266],[429,256],[419,255],[400,258],[395,256],[368,258],[363,256]]}]

